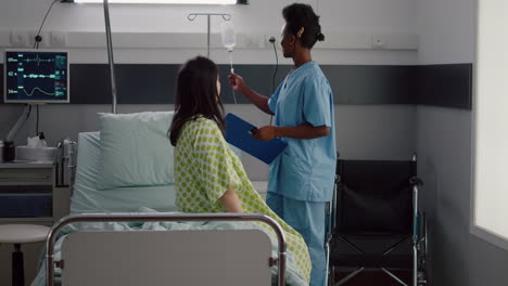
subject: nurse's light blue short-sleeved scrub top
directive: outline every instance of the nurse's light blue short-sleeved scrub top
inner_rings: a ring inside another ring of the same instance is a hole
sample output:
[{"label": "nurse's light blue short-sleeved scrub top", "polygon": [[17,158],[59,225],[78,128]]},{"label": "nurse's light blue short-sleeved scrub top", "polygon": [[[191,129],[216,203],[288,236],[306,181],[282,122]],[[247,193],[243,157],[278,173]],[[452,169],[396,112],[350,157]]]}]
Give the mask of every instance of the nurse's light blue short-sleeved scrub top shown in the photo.
[{"label": "nurse's light blue short-sleeved scrub top", "polygon": [[293,69],[268,101],[275,126],[330,127],[316,139],[281,138],[288,147],[270,164],[268,192],[307,202],[329,202],[335,178],[333,94],[316,62]]}]

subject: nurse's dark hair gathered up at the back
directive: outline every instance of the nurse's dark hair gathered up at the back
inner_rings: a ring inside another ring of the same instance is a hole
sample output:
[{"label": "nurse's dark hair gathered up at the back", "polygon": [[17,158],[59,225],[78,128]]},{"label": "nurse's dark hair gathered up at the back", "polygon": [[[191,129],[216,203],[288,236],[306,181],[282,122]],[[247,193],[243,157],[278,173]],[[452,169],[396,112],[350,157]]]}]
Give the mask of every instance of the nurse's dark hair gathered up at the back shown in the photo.
[{"label": "nurse's dark hair gathered up at the back", "polygon": [[319,16],[314,13],[310,5],[293,3],[282,10],[282,16],[285,20],[284,32],[299,38],[299,31],[302,27],[304,28],[300,37],[302,47],[312,49],[316,41],[325,40],[325,35],[321,34],[321,25],[319,25]]}]

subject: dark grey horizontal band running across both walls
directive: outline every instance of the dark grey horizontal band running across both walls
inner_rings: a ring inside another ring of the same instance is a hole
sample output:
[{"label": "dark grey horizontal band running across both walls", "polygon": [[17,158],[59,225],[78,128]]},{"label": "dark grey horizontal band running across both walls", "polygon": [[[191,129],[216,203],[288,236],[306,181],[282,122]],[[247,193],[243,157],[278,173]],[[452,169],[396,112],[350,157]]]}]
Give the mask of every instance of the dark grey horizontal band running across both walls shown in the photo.
[{"label": "dark grey horizontal band running across both walls", "polygon": [[[115,65],[119,104],[174,103],[176,64]],[[236,65],[234,72],[264,95],[271,95],[290,65]],[[471,108],[471,64],[430,66],[321,65],[330,81],[335,104],[429,104]],[[234,103],[227,76],[229,65],[219,65],[224,103]],[[3,68],[0,69],[3,78]],[[71,65],[71,103],[111,103],[106,64]],[[0,83],[3,93],[3,81]],[[2,95],[3,98],[3,95]],[[236,94],[237,103],[247,100]]]}]

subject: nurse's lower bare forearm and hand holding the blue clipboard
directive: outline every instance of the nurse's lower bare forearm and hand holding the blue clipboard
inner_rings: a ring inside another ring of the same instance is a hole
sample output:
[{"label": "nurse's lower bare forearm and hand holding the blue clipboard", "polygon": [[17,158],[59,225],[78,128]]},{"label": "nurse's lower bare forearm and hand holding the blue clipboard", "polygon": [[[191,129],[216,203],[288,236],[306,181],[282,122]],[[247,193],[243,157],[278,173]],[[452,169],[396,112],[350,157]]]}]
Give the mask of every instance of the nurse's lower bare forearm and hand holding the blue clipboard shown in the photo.
[{"label": "nurse's lower bare forearm and hand holding the blue clipboard", "polygon": [[264,126],[253,131],[253,136],[257,140],[271,140],[278,136],[294,139],[315,139],[326,136],[330,133],[328,126],[312,126],[309,123],[301,126]]}]

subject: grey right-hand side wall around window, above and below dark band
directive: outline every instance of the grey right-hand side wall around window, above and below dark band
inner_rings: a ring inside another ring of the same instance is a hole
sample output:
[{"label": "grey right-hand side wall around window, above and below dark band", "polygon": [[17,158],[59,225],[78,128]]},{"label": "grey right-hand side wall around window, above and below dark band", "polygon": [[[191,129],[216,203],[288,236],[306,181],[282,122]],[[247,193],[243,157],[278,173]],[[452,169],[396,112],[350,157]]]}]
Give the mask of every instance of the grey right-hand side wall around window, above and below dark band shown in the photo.
[{"label": "grey right-hand side wall around window, above and below dark band", "polygon": [[[475,0],[417,1],[420,64],[473,63]],[[474,106],[473,106],[474,108]],[[417,107],[431,285],[508,285],[508,252],[469,233],[471,112]]]}]

